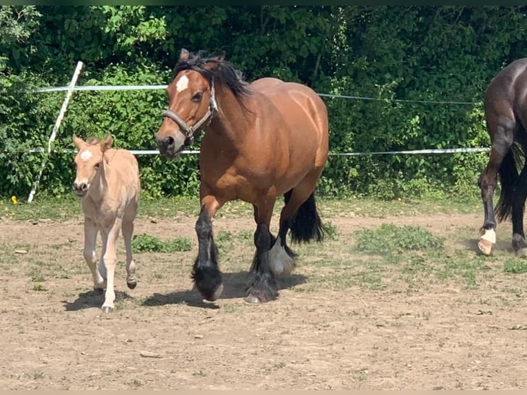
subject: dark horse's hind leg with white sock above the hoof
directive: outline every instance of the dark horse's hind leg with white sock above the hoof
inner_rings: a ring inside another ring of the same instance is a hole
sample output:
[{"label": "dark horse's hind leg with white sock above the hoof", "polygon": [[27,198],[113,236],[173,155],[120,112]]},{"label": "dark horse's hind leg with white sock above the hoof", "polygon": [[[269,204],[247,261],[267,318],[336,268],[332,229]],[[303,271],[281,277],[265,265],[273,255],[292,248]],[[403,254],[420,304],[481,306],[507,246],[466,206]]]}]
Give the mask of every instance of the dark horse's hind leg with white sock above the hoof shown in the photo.
[{"label": "dark horse's hind leg with white sock above the hoof", "polygon": [[[487,114],[487,127],[493,140],[488,163],[478,178],[477,183],[481,189],[484,224],[481,228],[481,237],[477,243],[478,248],[484,255],[491,255],[492,248],[496,243],[496,220],[493,208],[493,194],[497,184],[497,173],[507,155],[512,156],[510,147],[514,142],[514,130],[516,122],[513,118]],[[502,180],[503,184],[503,180]],[[502,185],[503,188],[503,185]]]}]

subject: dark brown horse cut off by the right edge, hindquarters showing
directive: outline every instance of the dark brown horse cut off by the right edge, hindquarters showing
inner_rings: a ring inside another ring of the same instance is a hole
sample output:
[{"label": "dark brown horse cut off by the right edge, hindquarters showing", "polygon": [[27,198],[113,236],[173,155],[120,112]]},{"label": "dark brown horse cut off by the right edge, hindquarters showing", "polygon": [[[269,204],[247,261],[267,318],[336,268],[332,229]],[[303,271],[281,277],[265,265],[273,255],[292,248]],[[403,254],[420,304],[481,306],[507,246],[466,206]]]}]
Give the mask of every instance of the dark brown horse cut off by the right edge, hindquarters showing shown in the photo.
[{"label": "dark brown horse cut off by the right edge, hindquarters showing", "polygon": [[[485,220],[478,247],[490,255],[496,242],[496,218],[512,217],[513,248],[527,255],[524,206],[527,197],[527,58],[518,59],[499,72],[488,85],[484,98],[486,127],[491,136],[491,154],[480,175]],[[493,193],[497,174],[501,184],[496,217]]]}]

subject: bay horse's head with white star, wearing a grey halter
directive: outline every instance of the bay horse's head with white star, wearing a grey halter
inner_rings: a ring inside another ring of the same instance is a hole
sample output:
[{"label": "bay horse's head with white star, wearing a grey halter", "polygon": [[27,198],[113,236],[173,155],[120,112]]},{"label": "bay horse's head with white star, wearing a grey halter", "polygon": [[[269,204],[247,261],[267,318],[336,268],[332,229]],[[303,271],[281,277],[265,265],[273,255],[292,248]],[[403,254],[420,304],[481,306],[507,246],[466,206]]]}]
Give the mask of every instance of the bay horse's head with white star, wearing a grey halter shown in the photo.
[{"label": "bay horse's head with white star, wearing a grey halter", "polygon": [[175,158],[192,144],[194,136],[211,122],[217,110],[214,74],[223,56],[201,59],[183,49],[175,67],[175,78],[166,88],[169,108],[163,111],[163,121],[155,142],[163,156]]}]

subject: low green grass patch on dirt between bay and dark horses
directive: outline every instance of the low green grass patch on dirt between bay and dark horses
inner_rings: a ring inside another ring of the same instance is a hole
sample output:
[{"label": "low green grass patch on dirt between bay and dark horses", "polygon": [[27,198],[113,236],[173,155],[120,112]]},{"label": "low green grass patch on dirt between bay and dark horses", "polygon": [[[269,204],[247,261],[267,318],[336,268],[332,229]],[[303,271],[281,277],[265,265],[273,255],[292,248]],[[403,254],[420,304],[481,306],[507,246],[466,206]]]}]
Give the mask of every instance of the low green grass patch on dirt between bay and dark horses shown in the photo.
[{"label": "low green grass patch on dirt between bay and dark horses", "polygon": [[437,250],[443,239],[419,226],[382,224],[376,229],[361,229],[354,233],[355,248],[362,253],[389,257],[410,250]]}]

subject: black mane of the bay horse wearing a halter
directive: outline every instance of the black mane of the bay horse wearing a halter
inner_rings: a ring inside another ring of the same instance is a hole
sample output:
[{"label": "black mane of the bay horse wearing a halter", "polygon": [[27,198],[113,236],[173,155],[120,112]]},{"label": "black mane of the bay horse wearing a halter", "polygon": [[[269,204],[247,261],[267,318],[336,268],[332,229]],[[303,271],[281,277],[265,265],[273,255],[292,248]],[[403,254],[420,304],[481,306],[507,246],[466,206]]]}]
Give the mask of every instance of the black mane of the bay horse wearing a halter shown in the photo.
[{"label": "black mane of the bay horse wearing a halter", "polygon": [[[215,67],[204,67],[206,63],[214,63]],[[214,78],[215,83],[220,83],[228,87],[235,98],[240,99],[249,94],[249,84],[244,81],[244,75],[237,70],[234,65],[223,59],[223,56],[206,56],[204,51],[190,53],[189,58],[180,60],[174,67],[174,75],[178,75],[183,70],[195,70],[202,74],[208,81]]]}]

